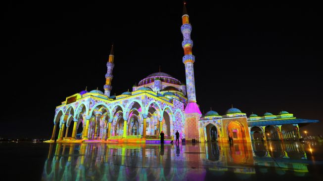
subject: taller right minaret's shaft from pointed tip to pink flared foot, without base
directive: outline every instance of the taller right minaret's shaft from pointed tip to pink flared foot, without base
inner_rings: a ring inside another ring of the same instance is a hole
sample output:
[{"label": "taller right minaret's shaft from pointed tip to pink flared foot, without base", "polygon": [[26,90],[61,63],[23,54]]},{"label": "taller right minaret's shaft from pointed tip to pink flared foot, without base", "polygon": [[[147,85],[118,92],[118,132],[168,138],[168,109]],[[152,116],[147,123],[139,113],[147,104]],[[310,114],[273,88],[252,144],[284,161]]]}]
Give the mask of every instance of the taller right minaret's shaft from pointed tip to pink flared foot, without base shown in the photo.
[{"label": "taller right minaret's shaft from pointed tip to pink flared foot, without base", "polygon": [[195,81],[194,81],[194,68],[193,64],[195,57],[192,54],[193,41],[190,39],[190,33],[192,31],[192,26],[189,23],[188,13],[185,7],[186,2],[184,1],[183,6],[183,16],[181,31],[183,34],[182,46],[184,49],[183,63],[185,64],[185,74],[186,74],[186,91],[188,104],[185,108],[185,113],[197,113],[201,115],[201,111],[196,104],[196,95],[195,95]]}]

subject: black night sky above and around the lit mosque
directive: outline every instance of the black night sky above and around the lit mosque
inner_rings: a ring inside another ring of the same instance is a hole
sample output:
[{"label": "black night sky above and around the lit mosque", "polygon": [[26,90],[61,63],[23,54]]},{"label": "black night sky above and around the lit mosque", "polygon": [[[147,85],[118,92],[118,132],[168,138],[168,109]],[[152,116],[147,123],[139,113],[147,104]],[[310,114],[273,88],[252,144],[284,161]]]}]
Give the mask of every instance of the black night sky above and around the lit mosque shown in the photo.
[{"label": "black night sky above and around the lit mosque", "polygon": [[[318,4],[186,4],[202,112],[224,115],[231,104],[247,115],[285,110],[321,120],[303,131],[322,134]],[[67,96],[86,86],[104,91],[112,43],[111,95],[159,65],[185,83],[182,9],[181,0],[3,5],[0,136],[50,138],[55,107]]]}]

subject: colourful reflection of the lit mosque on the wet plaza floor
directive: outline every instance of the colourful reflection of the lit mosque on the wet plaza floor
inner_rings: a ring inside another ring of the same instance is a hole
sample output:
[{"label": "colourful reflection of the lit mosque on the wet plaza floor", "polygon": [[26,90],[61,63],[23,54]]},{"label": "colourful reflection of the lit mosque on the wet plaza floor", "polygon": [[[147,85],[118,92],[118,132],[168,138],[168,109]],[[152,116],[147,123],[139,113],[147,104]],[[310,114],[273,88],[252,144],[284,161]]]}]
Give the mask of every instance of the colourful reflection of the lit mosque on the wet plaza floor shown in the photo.
[{"label": "colourful reflection of the lit mosque on the wet plaza floor", "polygon": [[[253,150],[253,151],[252,151]],[[304,176],[304,146],[297,142],[219,145],[50,144],[42,180],[204,180],[234,173]],[[232,175],[232,174],[231,174]]]}]

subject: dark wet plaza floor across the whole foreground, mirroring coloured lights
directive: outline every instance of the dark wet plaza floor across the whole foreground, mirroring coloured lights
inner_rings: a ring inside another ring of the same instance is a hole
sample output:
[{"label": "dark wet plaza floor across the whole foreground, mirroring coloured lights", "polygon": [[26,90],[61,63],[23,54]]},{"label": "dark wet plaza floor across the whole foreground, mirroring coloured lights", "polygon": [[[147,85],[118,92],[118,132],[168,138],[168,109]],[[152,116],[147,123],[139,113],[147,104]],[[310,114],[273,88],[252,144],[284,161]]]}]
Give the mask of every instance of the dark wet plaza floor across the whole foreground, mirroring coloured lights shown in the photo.
[{"label": "dark wet plaza floor across the whole foreground, mirroring coloured lights", "polygon": [[43,181],[322,180],[322,142],[0,143],[1,177]]}]

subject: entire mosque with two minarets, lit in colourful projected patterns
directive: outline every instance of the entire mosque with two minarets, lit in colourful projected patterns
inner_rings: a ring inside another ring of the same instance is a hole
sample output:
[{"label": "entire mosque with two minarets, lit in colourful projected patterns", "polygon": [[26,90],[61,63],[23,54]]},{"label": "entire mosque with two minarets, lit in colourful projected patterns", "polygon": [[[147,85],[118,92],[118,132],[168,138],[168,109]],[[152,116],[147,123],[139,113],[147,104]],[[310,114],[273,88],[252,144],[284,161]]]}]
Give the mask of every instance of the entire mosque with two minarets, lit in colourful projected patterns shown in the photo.
[{"label": "entire mosque with two minarets, lit in colourful projected patterns", "polygon": [[[231,107],[225,115],[209,111],[202,115],[196,103],[192,26],[185,5],[182,16],[186,83],[163,72],[152,73],[142,79],[132,91],[110,95],[114,51],[108,57],[104,92],[83,90],[66,97],[55,109],[50,141],[58,142],[158,142],[161,131],[165,142],[180,139],[197,142],[265,140],[296,140],[299,124],[318,120],[297,119],[286,111],[278,115],[266,112],[249,117]],[[58,133],[57,133],[58,132]],[[58,136],[57,136],[58,135]],[[50,142],[49,141],[49,142]]]}]

